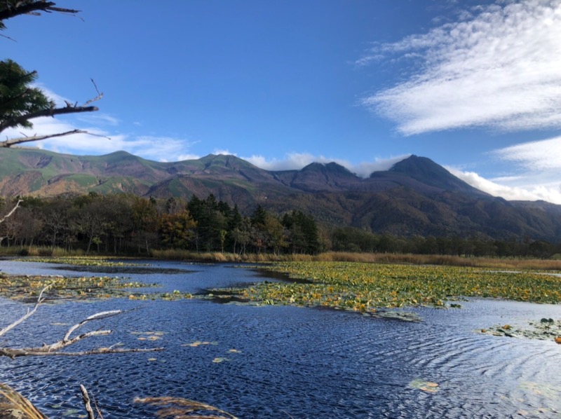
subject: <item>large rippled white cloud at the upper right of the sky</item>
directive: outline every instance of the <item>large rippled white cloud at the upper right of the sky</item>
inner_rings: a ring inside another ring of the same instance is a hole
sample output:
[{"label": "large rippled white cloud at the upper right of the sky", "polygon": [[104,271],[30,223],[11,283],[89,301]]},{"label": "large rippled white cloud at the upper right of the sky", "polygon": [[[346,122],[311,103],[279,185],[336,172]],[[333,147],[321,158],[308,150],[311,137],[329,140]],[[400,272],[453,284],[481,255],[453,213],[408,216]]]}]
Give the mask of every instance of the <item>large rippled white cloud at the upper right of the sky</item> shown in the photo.
[{"label": "large rippled white cloud at the upper right of the sky", "polygon": [[359,65],[414,57],[407,81],[362,103],[403,135],[560,128],[561,0],[498,1],[469,12],[361,57]]}]

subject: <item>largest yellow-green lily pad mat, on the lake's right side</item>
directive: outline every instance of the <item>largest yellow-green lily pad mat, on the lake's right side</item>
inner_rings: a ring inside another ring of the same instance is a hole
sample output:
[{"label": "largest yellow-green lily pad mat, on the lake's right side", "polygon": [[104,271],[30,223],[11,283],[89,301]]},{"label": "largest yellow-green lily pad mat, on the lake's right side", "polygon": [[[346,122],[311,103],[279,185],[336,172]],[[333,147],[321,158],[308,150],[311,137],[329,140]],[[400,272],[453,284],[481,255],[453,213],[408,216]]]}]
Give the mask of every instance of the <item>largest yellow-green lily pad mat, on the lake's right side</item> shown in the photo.
[{"label": "largest yellow-green lily pad mat, on the lake's right side", "polygon": [[[560,277],[525,271],[353,262],[280,262],[264,269],[287,273],[294,281],[263,282],[229,292],[260,304],[358,312],[421,305],[445,308],[446,301],[461,297],[561,301]],[[457,303],[450,306],[460,308]]]}]

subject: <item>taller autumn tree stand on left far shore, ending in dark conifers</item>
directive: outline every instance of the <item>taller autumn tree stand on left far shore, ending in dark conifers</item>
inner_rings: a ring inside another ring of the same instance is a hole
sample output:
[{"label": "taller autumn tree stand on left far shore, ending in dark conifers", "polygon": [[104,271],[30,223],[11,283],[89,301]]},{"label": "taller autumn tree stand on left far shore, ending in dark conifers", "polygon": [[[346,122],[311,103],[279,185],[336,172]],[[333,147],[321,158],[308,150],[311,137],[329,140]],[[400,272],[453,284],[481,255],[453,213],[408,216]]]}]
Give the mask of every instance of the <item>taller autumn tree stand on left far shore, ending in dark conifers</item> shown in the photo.
[{"label": "taller autumn tree stand on left far shore, ending in dark conifers", "polygon": [[[135,195],[18,198],[18,211],[0,224],[0,245],[60,247],[104,254],[149,255],[153,249],[194,252],[302,253],[322,251],[310,214],[273,214],[257,206],[250,215],[214,195],[156,200]],[[13,207],[0,202],[0,211]]]}]

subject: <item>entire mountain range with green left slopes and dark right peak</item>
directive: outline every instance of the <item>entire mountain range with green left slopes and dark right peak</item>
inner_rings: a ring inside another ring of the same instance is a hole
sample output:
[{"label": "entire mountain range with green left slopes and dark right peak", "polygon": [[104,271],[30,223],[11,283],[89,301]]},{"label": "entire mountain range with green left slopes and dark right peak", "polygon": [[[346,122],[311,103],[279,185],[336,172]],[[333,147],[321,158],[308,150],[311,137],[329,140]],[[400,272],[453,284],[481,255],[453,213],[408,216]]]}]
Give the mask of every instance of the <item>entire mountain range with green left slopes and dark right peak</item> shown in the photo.
[{"label": "entire mountain range with green left slopes and dark right peak", "polygon": [[256,205],[300,209],[326,226],[377,233],[561,240],[561,206],[508,202],[454,177],[424,157],[360,178],[337,163],[271,172],[235,156],[160,163],[119,151],[71,156],[39,149],[0,149],[0,195],[132,193],[185,199],[214,194],[241,211]]}]

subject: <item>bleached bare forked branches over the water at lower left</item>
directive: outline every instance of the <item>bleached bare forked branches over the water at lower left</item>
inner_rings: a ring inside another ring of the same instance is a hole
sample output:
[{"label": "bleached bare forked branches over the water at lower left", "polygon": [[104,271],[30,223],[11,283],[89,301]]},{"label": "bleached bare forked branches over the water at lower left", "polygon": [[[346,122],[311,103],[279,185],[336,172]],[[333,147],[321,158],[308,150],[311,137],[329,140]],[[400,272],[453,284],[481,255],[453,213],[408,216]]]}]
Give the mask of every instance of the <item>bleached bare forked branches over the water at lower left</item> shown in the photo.
[{"label": "bleached bare forked branches over the water at lower left", "polygon": [[[45,287],[41,290],[41,294],[39,294],[39,298],[37,298],[37,302],[35,303],[35,306],[34,306],[33,310],[28,311],[27,314],[20,317],[20,319],[16,320],[12,324],[8,324],[8,326],[5,327],[4,329],[1,329],[0,330],[0,336],[3,336],[4,334],[6,334],[6,332],[8,332],[11,329],[13,329],[14,327],[18,326],[18,324],[24,322],[29,317],[31,317],[34,314],[34,312],[36,312],[37,308],[39,308],[39,305],[44,301],[43,292],[46,291],[46,289],[48,287],[49,286],[47,286],[47,287]],[[107,319],[109,317],[114,317],[114,316],[120,315],[122,313],[123,313],[123,310],[111,310],[111,311],[97,312],[94,315],[90,315],[90,317],[87,317],[86,319],[82,320],[81,322],[76,323],[76,324],[74,324],[74,326],[70,327],[67,330],[65,336],[60,341],[56,341],[55,343],[51,343],[50,345],[47,345],[46,343],[43,343],[43,345],[41,347],[38,347],[38,348],[0,348],[0,356],[10,357],[10,358],[14,359],[16,357],[28,357],[28,356],[81,356],[81,355],[100,355],[100,354],[114,354],[114,353],[126,353],[126,352],[154,352],[154,351],[163,350],[163,348],[127,349],[127,348],[114,348],[114,346],[111,346],[109,348],[97,348],[97,349],[93,349],[93,350],[83,350],[83,351],[80,351],[80,352],[64,352],[64,351],[61,351],[62,349],[66,348],[67,346],[72,345],[76,342],[79,342],[79,341],[81,341],[85,338],[90,338],[92,336],[104,336],[104,335],[111,334],[112,333],[111,330],[97,329],[97,330],[94,330],[94,331],[88,331],[88,332],[80,334],[78,336],[74,336],[72,338],[70,337],[72,335],[72,333],[74,333],[74,331],[76,331],[77,329],[82,327],[84,324],[87,324],[89,322],[93,322],[94,320],[103,320],[103,319]]]}]

